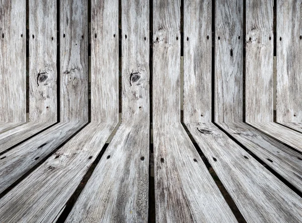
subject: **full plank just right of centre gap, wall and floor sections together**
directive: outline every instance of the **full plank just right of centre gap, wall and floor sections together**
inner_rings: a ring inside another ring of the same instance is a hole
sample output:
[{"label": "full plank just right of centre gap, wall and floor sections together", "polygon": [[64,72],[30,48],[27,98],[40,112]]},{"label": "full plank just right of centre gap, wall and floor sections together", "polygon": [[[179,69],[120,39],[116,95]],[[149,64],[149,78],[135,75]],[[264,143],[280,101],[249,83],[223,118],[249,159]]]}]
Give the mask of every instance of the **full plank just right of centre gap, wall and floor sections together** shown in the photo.
[{"label": "full plank just right of centre gap, wall and floor sections together", "polygon": [[180,123],[180,1],[153,7],[156,221],[236,222]]}]

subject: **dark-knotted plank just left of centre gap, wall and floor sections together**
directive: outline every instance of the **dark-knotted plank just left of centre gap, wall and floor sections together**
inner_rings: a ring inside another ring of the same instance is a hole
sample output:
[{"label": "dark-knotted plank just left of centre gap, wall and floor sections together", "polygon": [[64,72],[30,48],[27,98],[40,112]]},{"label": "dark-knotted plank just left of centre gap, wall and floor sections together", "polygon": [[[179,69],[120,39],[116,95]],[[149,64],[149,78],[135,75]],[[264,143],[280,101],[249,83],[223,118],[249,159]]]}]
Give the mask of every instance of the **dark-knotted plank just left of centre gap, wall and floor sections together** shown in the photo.
[{"label": "dark-knotted plank just left of centre gap, wall and floor sections together", "polygon": [[121,4],[122,123],[66,222],[148,219],[149,5]]}]

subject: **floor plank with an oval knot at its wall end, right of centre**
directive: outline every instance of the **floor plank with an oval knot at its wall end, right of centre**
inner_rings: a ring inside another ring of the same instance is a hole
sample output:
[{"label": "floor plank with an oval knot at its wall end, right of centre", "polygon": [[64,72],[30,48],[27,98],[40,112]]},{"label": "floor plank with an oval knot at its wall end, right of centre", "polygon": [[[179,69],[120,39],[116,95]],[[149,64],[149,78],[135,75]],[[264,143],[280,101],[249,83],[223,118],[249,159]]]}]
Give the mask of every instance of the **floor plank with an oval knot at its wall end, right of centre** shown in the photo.
[{"label": "floor plank with an oval knot at its wall end, right of centre", "polygon": [[299,222],[302,199],[213,123],[187,127],[247,222]]}]

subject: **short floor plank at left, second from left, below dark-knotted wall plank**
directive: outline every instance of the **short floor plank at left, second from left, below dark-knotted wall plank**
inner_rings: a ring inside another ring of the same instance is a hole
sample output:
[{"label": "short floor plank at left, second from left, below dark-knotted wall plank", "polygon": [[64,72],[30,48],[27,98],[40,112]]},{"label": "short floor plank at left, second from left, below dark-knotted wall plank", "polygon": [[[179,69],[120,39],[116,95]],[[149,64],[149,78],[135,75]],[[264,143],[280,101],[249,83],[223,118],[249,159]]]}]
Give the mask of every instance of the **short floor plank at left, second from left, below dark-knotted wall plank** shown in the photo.
[{"label": "short floor plank at left, second from left, below dark-knotted wall plank", "polygon": [[0,152],[53,125],[55,122],[27,122],[0,134]]}]

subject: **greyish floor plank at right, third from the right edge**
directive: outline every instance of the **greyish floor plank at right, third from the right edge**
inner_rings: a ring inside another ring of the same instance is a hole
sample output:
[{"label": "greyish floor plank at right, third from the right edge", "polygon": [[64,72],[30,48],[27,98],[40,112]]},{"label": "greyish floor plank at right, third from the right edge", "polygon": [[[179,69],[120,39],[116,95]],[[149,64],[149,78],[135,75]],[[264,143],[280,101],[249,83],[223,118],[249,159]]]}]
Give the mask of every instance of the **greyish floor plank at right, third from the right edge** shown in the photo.
[{"label": "greyish floor plank at right, third from the right edge", "polygon": [[267,166],[302,191],[302,154],[245,123],[217,123]]}]

